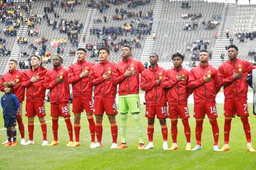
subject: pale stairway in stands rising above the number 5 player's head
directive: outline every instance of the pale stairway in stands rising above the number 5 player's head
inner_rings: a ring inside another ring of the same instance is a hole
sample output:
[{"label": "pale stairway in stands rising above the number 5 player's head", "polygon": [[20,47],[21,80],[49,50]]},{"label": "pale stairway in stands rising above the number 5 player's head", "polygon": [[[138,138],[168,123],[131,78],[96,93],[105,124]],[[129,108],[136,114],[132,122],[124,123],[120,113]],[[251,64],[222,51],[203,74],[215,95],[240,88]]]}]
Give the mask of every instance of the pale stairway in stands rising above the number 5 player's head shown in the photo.
[{"label": "pale stairway in stands rising above the number 5 player's head", "polygon": [[[97,1],[95,1],[95,3],[97,3]],[[93,21],[96,18],[96,14],[97,14],[97,8],[90,8],[89,9],[88,15],[87,15],[87,18],[86,18],[86,21],[85,21],[84,28],[82,30],[82,35],[85,34],[85,42],[83,42],[82,36],[81,36],[78,48],[80,48],[80,47],[85,48],[85,45],[87,43],[89,43],[90,28],[92,28],[92,26],[93,26]],[[75,62],[77,62],[76,53],[75,53],[73,63],[75,63]]]}]

